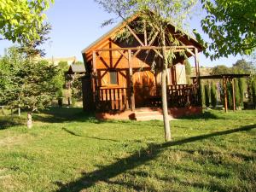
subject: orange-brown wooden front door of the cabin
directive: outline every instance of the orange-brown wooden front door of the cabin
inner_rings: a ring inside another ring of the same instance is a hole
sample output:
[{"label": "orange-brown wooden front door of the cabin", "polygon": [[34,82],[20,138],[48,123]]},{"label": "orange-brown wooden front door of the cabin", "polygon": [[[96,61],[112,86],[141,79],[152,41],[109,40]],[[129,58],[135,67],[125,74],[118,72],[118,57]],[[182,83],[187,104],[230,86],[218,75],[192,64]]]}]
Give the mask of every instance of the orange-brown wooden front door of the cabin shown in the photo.
[{"label": "orange-brown wooden front door of the cabin", "polygon": [[136,108],[152,107],[151,100],[156,94],[154,73],[137,71],[133,74]]}]

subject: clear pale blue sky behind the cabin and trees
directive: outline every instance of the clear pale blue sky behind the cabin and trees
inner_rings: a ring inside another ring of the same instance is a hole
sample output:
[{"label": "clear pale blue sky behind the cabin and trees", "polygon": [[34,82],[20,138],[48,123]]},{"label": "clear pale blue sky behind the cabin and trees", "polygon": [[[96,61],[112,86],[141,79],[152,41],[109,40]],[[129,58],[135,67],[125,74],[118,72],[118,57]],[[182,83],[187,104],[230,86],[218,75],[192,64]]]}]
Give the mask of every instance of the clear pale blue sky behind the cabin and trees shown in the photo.
[{"label": "clear pale blue sky behind the cabin and trees", "polygon": [[[46,57],[76,56],[79,61],[82,61],[81,50],[113,27],[101,26],[104,20],[108,20],[113,15],[104,12],[94,0],[55,0],[55,4],[46,14],[47,21],[53,27],[49,34],[51,39],[44,45]],[[201,15],[194,16],[190,23],[191,31],[195,28],[201,33],[200,19]],[[4,49],[12,44],[6,40],[0,43],[0,55],[3,55]],[[218,61],[211,61],[201,54],[200,64],[204,67],[220,64],[232,66],[238,59],[241,59],[241,56],[230,56]]]}]

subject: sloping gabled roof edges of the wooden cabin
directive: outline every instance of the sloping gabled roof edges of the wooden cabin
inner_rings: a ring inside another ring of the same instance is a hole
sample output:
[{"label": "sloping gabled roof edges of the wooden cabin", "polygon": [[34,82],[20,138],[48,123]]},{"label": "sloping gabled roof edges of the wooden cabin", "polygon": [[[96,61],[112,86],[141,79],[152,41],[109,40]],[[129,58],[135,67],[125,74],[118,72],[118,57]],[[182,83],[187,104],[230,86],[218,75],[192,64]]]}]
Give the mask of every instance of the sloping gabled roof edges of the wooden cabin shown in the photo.
[{"label": "sloping gabled roof edges of the wooden cabin", "polygon": [[[108,32],[106,32],[105,34],[102,35],[102,37],[96,39],[96,41],[94,41],[92,44],[90,44],[89,46],[87,46],[86,48],[84,48],[81,53],[82,54],[87,54],[90,53],[93,49],[96,49],[97,46],[101,45],[102,42],[108,40],[109,38],[112,38],[114,34],[116,34],[116,32],[119,32],[121,29],[123,29],[127,23],[130,23],[133,20],[136,20],[139,17],[139,15],[134,15],[131,17],[131,19],[125,20],[125,21],[121,21],[119,22],[119,24],[117,24],[116,26],[114,26],[111,30],[109,30]],[[174,27],[174,25],[170,25],[172,27]],[[189,41],[192,44],[195,44],[195,46],[200,49],[203,49],[203,46],[194,38],[191,37],[188,33],[183,32],[183,34],[185,35],[186,38],[189,39]]]}]

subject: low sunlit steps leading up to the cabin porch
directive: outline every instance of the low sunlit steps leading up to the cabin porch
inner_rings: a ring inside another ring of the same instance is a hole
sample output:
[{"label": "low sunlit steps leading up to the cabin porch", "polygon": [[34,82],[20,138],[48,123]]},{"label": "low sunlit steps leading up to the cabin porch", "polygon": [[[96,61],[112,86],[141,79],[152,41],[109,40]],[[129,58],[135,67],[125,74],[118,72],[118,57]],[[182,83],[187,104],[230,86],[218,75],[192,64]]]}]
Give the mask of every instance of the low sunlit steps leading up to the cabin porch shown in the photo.
[{"label": "low sunlit steps leading up to the cabin porch", "polygon": [[[172,120],[172,116],[169,116],[169,120]],[[163,120],[163,114],[159,108],[137,108],[135,112],[131,113],[131,119],[137,121],[145,120]]]}]

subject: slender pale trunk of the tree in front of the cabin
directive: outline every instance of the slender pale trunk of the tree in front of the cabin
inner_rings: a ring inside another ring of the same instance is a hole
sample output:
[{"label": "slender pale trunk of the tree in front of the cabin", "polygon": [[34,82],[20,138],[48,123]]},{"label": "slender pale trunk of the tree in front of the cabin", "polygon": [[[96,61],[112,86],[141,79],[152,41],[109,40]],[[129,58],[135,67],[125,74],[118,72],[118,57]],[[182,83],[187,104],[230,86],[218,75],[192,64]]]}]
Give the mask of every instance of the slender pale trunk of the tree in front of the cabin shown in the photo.
[{"label": "slender pale trunk of the tree in front of the cabin", "polygon": [[170,121],[169,121],[168,105],[167,105],[166,75],[167,75],[168,63],[166,58],[165,46],[162,47],[162,54],[163,54],[163,62],[164,62],[162,67],[162,77],[161,77],[162,109],[163,109],[163,120],[164,120],[164,127],[165,127],[165,138],[166,138],[166,142],[169,142],[172,140],[172,137],[171,137],[171,129],[170,129]]}]

